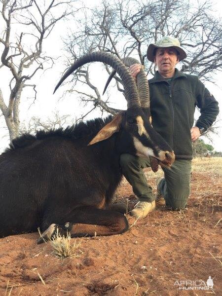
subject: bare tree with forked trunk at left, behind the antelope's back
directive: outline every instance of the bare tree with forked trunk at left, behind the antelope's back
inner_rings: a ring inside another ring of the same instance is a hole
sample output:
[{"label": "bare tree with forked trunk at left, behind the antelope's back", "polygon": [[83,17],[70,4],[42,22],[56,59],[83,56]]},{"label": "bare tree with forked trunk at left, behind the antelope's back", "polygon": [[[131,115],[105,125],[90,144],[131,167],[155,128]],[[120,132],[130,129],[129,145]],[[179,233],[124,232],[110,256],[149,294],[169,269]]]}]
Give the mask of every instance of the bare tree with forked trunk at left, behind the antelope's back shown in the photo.
[{"label": "bare tree with forked trunk at left, behind the antelope's back", "polygon": [[[10,70],[9,98],[0,88],[0,110],[9,130],[10,140],[19,134],[19,104],[25,87],[36,85],[28,81],[43,69],[53,65],[53,58],[43,51],[43,43],[55,25],[74,13],[75,0],[0,0],[1,67]],[[8,99],[8,100],[7,100]],[[8,103],[7,103],[8,101]]]}]

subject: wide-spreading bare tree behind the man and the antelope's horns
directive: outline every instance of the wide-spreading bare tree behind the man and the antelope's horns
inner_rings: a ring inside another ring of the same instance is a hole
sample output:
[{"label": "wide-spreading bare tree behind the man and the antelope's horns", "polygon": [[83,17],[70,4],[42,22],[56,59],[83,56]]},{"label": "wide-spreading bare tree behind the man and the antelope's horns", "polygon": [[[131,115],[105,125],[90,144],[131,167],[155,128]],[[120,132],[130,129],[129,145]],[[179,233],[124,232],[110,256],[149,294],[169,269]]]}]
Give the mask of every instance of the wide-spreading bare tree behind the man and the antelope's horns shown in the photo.
[{"label": "wide-spreading bare tree behind the man and the antelope's horns", "polygon": [[[214,82],[222,66],[222,24],[213,15],[212,4],[188,0],[102,0],[101,5],[85,8],[84,18],[76,19],[76,30],[65,41],[71,64],[79,56],[104,50],[119,58],[133,56],[143,64],[148,75],[154,74],[154,64],[146,59],[147,46],[158,38],[171,35],[179,38],[187,52],[181,71],[196,74],[202,80]],[[69,65],[68,65],[69,66]],[[104,66],[110,74],[111,69]],[[117,89],[123,92],[121,80],[114,76]],[[102,99],[92,83],[90,66],[75,72],[69,91],[76,92],[89,110],[100,108],[112,114],[109,97]],[[83,84],[84,91],[79,87]]]}]

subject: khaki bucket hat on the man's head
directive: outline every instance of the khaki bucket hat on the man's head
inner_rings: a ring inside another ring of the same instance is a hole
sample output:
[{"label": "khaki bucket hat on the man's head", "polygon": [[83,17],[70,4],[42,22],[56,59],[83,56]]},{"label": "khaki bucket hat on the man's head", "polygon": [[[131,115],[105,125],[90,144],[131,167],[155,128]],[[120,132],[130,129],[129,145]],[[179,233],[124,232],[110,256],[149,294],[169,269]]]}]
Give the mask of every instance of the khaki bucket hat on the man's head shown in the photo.
[{"label": "khaki bucket hat on the man's head", "polygon": [[180,41],[177,38],[171,36],[165,36],[162,39],[156,41],[156,44],[149,44],[147,50],[147,58],[150,62],[154,62],[154,49],[161,47],[173,47],[179,52],[179,60],[182,61],[186,58],[186,53],[181,47]]}]

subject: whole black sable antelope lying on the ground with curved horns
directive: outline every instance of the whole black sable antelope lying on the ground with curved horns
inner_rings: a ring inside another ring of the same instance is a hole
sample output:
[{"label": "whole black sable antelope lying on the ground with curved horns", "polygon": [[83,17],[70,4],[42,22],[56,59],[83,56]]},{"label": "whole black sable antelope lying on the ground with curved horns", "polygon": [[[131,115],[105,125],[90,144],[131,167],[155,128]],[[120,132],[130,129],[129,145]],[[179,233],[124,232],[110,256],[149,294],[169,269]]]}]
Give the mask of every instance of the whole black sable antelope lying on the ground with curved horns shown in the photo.
[{"label": "whole black sable antelope lying on the ground with curved horns", "polygon": [[[105,52],[74,62],[59,85],[78,67],[107,63],[122,79],[127,110],[113,118],[97,118],[66,129],[25,134],[0,155],[0,236],[44,231],[37,243],[56,228],[72,236],[111,235],[128,229],[126,217],[111,204],[121,181],[121,153],[152,156],[168,166],[174,153],[149,122],[148,84],[137,90],[127,67]],[[141,84],[138,75],[138,85]],[[144,83],[142,83],[144,84]],[[141,92],[142,91],[142,92]],[[141,95],[144,93],[143,95]],[[158,165],[157,165],[158,166]]]}]

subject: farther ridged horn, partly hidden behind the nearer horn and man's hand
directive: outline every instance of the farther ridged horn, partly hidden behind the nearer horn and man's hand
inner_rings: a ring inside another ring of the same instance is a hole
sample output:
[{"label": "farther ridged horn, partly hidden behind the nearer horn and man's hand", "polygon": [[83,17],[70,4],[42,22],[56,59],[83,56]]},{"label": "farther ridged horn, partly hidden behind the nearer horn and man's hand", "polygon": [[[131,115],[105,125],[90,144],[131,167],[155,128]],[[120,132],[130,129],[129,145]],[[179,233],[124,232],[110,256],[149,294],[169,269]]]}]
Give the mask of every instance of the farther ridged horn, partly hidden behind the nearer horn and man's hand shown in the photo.
[{"label": "farther ridged horn, partly hidden behind the nearer horn and man's hand", "polygon": [[[137,59],[131,58],[131,57],[127,57],[127,58],[123,58],[122,62],[127,66],[130,67],[133,64],[140,64],[140,62]],[[113,76],[115,75],[115,70],[113,70],[107,80],[107,83],[104,87],[104,91],[103,94],[105,93],[111,79],[113,78]],[[140,72],[137,74],[137,88],[138,88],[138,92],[139,92],[139,97],[140,97],[140,103],[141,103],[141,107],[142,108],[149,108],[150,105],[150,101],[149,101],[149,85],[148,85],[148,80],[147,80],[147,76],[144,72],[144,69],[142,67],[142,69],[140,70]]]}]

